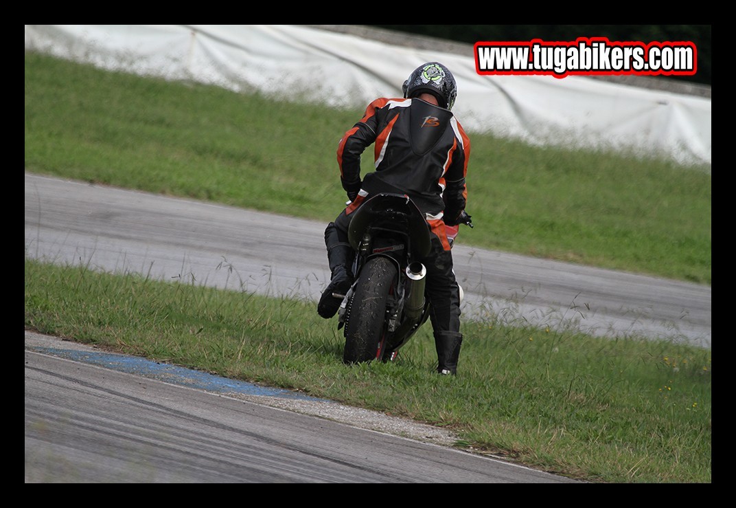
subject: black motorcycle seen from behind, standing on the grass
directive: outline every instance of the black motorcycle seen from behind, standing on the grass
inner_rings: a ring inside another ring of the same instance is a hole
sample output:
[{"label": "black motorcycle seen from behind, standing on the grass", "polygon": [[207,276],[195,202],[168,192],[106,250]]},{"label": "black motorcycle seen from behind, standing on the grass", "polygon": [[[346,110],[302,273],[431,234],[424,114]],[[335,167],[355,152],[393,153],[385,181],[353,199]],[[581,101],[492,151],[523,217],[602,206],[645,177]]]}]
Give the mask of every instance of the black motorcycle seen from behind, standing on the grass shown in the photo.
[{"label": "black motorcycle seen from behind, standing on the grass", "polygon": [[[431,232],[407,195],[377,194],[353,214],[348,240],[355,250],[355,282],[344,296],[335,295],[343,297],[343,361],[394,361],[429,317],[427,270],[420,260],[431,250]],[[465,212],[461,223],[473,227]]]}]

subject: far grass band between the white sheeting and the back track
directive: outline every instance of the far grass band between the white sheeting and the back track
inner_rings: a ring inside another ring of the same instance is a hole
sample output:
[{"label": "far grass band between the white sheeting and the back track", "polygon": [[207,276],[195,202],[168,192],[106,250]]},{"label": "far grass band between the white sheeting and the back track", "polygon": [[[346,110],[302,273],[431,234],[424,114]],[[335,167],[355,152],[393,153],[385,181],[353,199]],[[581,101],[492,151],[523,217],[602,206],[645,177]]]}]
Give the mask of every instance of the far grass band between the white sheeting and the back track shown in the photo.
[{"label": "far grass band between the white sheeting and the back track", "polygon": [[[27,52],[25,85],[26,171],[325,223],[344,204],[337,142],[362,111]],[[465,245],[710,285],[710,167],[470,136]]]}]

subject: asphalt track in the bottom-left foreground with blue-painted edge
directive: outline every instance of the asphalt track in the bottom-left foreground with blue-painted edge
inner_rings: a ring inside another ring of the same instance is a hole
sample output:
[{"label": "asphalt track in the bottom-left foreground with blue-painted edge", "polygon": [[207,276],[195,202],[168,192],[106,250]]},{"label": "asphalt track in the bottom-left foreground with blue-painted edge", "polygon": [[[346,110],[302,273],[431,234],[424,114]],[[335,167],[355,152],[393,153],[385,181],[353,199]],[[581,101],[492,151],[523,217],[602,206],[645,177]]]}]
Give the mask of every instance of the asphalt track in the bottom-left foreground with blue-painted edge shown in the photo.
[{"label": "asphalt track in the bottom-left foreground with blue-painted edge", "polygon": [[35,333],[25,371],[26,483],[579,483],[427,425]]}]

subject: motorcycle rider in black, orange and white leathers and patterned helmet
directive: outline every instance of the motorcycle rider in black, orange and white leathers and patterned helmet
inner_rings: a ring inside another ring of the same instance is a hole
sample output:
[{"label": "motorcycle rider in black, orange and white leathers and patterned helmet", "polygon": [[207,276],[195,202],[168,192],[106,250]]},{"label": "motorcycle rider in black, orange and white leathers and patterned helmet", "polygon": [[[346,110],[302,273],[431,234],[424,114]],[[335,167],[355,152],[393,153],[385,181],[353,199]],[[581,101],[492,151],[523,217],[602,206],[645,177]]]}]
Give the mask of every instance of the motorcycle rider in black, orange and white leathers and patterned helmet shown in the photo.
[{"label": "motorcycle rider in black, orange and white leathers and patterned helmet", "polygon": [[[467,200],[470,139],[450,112],[457,85],[446,66],[424,63],[402,88],[403,98],[371,102],[339,142],[340,181],[350,201],[325,229],[331,276],[317,312],[325,319],[335,316],[342,299],[333,293],[344,295],[353,285],[354,251],[347,239],[351,214],[375,193],[406,194],[425,214],[432,233],[431,253],[421,261],[427,268],[425,296],[431,303],[437,372],[456,375],[463,336],[450,246]],[[373,144],[375,171],[361,180],[361,154]]]}]

